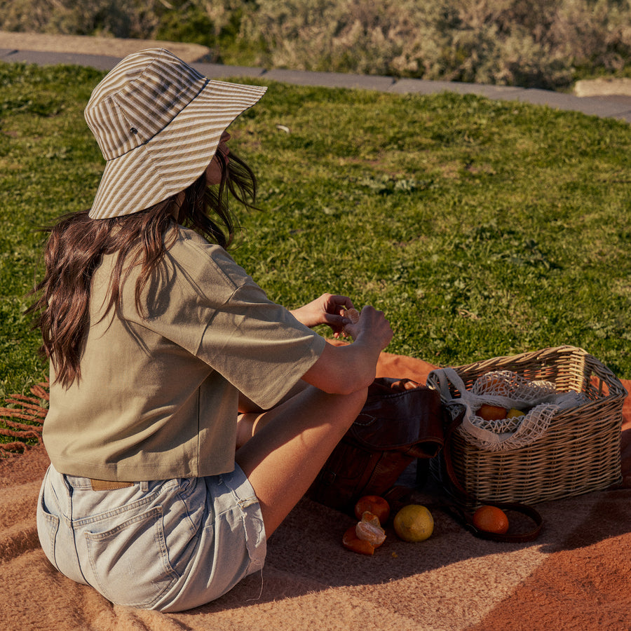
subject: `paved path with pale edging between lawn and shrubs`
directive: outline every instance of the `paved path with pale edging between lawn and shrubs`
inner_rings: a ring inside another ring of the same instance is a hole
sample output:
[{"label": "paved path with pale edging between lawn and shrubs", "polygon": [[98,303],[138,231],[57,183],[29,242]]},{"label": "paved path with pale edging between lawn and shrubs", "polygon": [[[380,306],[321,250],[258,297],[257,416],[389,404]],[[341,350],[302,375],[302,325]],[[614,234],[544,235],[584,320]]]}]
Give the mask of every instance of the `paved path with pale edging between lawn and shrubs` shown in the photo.
[{"label": "paved path with pale edging between lawn and shrubs", "polygon": [[[47,40],[36,39],[34,34],[0,33],[0,61],[27,62],[39,65],[46,64],[74,64],[90,66],[100,70],[109,70],[130,50],[125,46],[138,49],[140,42],[130,40],[110,40],[107,54],[86,53],[86,46],[79,46],[79,38],[69,36],[41,36]],[[30,38],[30,39],[27,39]],[[35,38],[35,39],[34,39]],[[101,38],[102,40],[103,38]],[[33,42],[45,41],[46,46],[37,46]],[[48,46],[48,42],[55,41],[55,46]],[[86,39],[82,38],[85,42]],[[27,48],[22,49],[20,43]],[[144,43],[144,42],[142,42]],[[173,46],[183,46],[176,45]],[[32,49],[31,49],[32,48]],[[43,50],[42,50],[43,48]],[[46,49],[48,48],[48,49]],[[54,48],[54,50],[51,50]],[[94,46],[93,48],[99,48]],[[77,52],[79,50],[79,52]],[[90,50],[90,48],[88,48]],[[109,52],[111,50],[111,53]],[[175,49],[174,49],[175,52]],[[178,51],[179,52],[179,51]],[[185,58],[184,48],[182,58]],[[194,51],[198,55],[198,50]],[[199,57],[196,57],[199,58]],[[185,59],[186,60],[186,59]],[[514,88],[509,86],[486,86],[477,83],[457,83],[450,81],[424,81],[423,79],[395,79],[390,76],[370,76],[361,74],[341,74],[335,72],[302,72],[298,70],[266,70],[264,68],[250,68],[241,66],[224,66],[187,60],[200,72],[210,79],[226,77],[240,77],[270,79],[284,81],[300,86],[324,86],[327,88],[362,88],[365,90],[379,90],[390,93],[434,94],[444,91],[459,94],[475,94],[491,99],[513,100],[548,105],[559,110],[580,111],[583,114],[618,118],[631,123],[631,96],[606,95],[578,97],[576,95],[538,90],[533,88]]]}]

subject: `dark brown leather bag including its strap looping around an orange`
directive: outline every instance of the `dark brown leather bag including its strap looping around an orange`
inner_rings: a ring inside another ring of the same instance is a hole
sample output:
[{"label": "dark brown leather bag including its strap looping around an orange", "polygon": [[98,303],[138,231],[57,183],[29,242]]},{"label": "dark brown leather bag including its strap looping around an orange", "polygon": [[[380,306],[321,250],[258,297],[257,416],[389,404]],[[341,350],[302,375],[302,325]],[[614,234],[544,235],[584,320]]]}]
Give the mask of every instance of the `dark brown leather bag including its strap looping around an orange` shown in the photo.
[{"label": "dark brown leather bag including its strap looping around an orange", "polygon": [[[386,496],[391,508],[398,510],[414,492],[396,485],[401,474],[416,459],[416,483],[420,486],[424,480],[419,479],[418,471],[428,469],[422,464],[444,449],[452,482],[445,490],[453,501],[442,499],[428,504],[428,508],[443,510],[476,537],[506,543],[533,541],[543,527],[537,510],[520,503],[480,501],[461,487],[449,449],[451,434],[461,418],[450,418],[437,391],[411,379],[375,379],[362,411],[320,470],[307,496],[351,515],[355,502],[364,495]],[[466,506],[480,503],[520,513],[522,518],[528,518],[526,525],[506,534],[478,530],[473,525],[472,511]]]}]

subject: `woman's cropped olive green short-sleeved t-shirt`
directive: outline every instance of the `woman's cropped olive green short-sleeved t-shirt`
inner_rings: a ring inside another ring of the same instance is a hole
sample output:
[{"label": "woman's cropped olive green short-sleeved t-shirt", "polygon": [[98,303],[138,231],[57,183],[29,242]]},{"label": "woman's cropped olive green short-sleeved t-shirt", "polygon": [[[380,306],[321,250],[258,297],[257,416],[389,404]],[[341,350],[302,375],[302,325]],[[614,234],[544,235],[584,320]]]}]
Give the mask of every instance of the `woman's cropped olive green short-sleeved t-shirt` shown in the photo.
[{"label": "woman's cropped olive green short-sleeved t-shirt", "polygon": [[273,407],[315,363],[325,339],[294,318],[227,252],[178,227],[161,273],[135,305],[104,314],[113,255],[95,271],[81,380],[54,383],[43,440],[60,473],[165,480],[234,468],[238,393]]}]

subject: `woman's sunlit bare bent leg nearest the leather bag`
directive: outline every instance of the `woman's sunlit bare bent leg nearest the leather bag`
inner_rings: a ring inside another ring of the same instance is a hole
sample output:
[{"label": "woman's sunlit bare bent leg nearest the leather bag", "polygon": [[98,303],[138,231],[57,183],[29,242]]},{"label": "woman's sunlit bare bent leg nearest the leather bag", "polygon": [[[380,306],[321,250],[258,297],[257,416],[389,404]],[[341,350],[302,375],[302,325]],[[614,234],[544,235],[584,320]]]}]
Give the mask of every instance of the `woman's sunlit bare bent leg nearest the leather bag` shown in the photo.
[{"label": "woman's sunlit bare bent leg nearest the leather bag", "polygon": [[269,412],[250,417],[256,421],[254,436],[237,450],[236,461],[259,498],[268,537],[311,486],[366,395],[366,389],[330,395],[309,386]]}]

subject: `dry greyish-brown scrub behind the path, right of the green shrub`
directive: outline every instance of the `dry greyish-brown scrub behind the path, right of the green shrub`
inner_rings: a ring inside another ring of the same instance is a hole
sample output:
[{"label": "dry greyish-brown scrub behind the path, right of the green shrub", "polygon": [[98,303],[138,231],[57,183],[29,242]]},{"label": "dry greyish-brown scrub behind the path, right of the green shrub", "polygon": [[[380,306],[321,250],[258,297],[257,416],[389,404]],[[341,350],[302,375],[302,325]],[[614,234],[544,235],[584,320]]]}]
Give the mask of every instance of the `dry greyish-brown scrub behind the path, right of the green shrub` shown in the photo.
[{"label": "dry greyish-brown scrub behind the path, right of the green shrub", "polygon": [[627,0],[261,0],[242,28],[263,65],[525,87],[631,57]]}]

